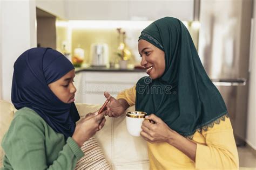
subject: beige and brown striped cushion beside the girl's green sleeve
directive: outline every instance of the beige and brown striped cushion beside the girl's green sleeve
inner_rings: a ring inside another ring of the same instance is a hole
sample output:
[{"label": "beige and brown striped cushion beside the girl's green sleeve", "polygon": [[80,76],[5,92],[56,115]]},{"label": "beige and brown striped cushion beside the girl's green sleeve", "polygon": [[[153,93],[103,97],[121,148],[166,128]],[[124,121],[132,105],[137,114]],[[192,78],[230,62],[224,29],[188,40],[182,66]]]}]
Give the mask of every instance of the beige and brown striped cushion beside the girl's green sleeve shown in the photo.
[{"label": "beige and brown striped cushion beside the girl's green sleeve", "polygon": [[85,141],[81,149],[84,152],[84,157],[78,160],[76,170],[111,169],[103,155],[102,148],[100,148],[95,138]]}]

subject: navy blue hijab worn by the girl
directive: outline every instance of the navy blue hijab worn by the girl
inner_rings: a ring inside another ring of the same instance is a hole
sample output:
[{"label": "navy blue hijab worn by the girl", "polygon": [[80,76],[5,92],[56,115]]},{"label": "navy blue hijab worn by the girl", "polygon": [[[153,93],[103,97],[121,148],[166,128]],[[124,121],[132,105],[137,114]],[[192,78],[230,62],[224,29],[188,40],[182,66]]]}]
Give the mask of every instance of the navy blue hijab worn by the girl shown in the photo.
[{"label": "navy blue hijab worn by the girl", "polygon": [[75,103],[64,103],[48,84],[57,81],[70,70],[72,63],[51,48],[31,48],[14,63],[11,101],[16,109],[28,107],[37,112],[53,130],[71,137],[79,114]]}]

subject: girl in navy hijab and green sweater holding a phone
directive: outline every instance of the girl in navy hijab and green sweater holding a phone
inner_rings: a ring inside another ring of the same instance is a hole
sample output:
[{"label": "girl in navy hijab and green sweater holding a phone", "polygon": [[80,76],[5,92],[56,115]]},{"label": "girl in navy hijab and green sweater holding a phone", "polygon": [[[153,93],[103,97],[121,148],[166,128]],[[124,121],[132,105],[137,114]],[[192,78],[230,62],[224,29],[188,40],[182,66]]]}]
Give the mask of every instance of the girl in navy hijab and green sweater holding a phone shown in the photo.
[{"label": "girl in navy hijab and green sweater holding a phone", "polygon": [[14,64],[15,113],[2,147],[4,169],[74,169],[80,149],[105,123],[104,114],[79,120],[75,68],[51,48],[31,48]]}]

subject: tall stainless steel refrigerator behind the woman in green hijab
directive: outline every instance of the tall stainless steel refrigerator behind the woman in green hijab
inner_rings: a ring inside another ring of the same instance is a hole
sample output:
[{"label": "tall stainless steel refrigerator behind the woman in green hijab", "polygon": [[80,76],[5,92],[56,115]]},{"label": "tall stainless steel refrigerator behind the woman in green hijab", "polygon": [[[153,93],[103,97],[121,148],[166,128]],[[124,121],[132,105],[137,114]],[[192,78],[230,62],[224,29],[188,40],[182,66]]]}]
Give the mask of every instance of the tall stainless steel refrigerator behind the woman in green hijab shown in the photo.
[{"label": "tall stainless steel refrigerator behind the woman in green hijab", "polygon": [[200,1],[199,56],[227,105],[237,145],[246,138],[252,6],[252,0]]}]

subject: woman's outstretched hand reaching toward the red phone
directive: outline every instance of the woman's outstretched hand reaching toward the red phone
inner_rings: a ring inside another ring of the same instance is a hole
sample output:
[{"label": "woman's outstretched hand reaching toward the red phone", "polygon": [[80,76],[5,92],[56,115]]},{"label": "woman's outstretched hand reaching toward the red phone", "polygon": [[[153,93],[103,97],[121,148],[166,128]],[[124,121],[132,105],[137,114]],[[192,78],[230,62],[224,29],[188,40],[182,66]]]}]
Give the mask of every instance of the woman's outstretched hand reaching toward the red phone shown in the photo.
[{"label": "woman's outstretched hand reaching toward the red phone", "polygon": [[[104,92],[104,96],[107,98],[110,96],[110,94],[107,92]],[[126,109],[123,107],[123,105],[118,100],[116,100],[116,98],[114,98],[112,96],[111,96],[110,102],[109,102],[109,104],[107,104],[106,108],[107,108],[106,115],[108,115],[109,117],[121,116]]]}]

